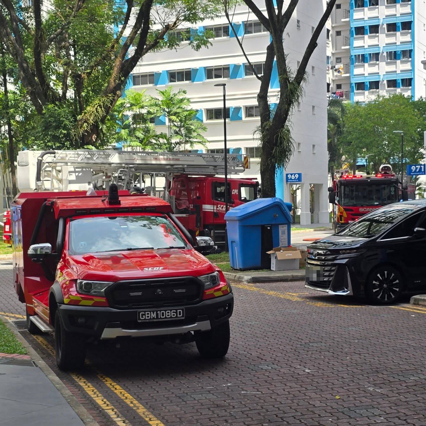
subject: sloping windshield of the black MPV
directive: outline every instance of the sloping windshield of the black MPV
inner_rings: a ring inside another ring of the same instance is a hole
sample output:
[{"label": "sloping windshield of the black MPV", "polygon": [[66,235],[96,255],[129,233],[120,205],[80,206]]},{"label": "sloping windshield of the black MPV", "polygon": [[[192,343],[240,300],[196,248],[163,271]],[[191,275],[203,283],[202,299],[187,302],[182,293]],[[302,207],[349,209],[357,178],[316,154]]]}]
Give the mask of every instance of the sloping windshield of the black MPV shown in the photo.
[{"label": "sloping windshield of the black MPV", "polygon": [[337,235],[353,236],[356,238],[372,238],[388,229],[393,223],[409,215],[416,207],[403,204],[393,207],[382,207],[363,216],[357,222],[345,227]]}]

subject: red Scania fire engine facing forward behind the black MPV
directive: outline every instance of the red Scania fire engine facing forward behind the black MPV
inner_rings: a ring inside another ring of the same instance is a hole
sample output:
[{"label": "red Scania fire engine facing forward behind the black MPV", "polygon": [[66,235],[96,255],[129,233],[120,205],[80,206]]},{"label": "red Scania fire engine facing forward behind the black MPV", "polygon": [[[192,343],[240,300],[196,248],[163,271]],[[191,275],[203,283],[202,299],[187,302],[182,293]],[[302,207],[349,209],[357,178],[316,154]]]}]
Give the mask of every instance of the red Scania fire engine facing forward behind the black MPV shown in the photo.
[{"label": "red Scania fire engine facing forward behind the black MPV", "polygon": [[334,231],[386,204],[408,199],[406,186],[401,188],[389,164],[380,166],[380,173],[375,175],[338,170],[334,175],[333,186],[328,191],[328,199],[334,204]]}]

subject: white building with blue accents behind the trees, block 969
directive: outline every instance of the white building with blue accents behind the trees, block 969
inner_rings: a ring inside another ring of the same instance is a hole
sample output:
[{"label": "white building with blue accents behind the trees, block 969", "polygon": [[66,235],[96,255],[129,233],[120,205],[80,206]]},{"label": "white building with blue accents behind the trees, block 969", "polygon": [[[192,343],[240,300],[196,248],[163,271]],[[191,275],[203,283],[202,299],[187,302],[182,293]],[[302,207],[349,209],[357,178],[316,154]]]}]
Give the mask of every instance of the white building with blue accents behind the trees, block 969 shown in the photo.
[{"label": "white building with blue accents behind the trees, block 969", "polygon": [[[255,3],[266,14],[264,1],[256,0]],[[285,3],[288,4],[288,1]],[[299,2],[284,34],[285,51],[291,68],[296,69],[302,59],[324,10],[325,0]],[[237,6],[233,14],[233,26],[248,58],[261,74],[266,47],[270,43],[269,33],[253,13],[248,12],[246,6]],[[205,135],[209,141],[208,147],[202,149],[223,153],[222,87],[214,85],[226,83],[227,147],[230,153],[250,156],[250,169],[241,177],[257,178],[260,181],[259,142],[253,136],[260,124],[256,101],[260,82],[252,75],[225,16],[182,29],[186,30],[183,37],[187,38],[195,31],[212,30],[215,33],[215,38],[211,40],[213,46],[195,52],[184,41],[177,51],[144,56],[133,70],[132,88],[146,90],[148,95],[156,95],[155,89],[164,89],[167,85],[176,86],[176,90],[185,89],[191,99],[191,106],[198,111],[196,118],[203,121],[208,129]],[[296,214],[300,215],[300,223],[303,225],[311,221],[329,222],[325,55],[326,29],[308,65],[309,82],[305,86],[305,96],[295,106],[291,117],[292,135],[296,143],[294,155],[286,170],[277,173],[276,177],[276,195],[285,201],[291,201],[288,177],[293,181],[299,180],[294,183],[294,189],[299,195]],[[276,107],[278,93],[278,72],[274,66],[269,90],[272,110]],[[155,125],[158,132],[166,132],[167,118],[156,119]]]}]

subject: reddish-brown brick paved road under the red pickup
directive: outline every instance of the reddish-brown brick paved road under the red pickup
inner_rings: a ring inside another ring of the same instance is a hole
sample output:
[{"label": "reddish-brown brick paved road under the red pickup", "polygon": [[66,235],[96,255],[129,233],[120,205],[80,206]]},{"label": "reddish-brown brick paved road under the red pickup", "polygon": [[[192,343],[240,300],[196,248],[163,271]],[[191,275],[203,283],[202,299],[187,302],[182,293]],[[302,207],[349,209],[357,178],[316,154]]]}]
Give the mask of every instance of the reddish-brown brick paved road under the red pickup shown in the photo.
[{"label": "reddish-brown brick paved road under the red pickup", "polygon": [[[1,295],[7,286],[0,282]],[[234,293],[225,360],[201,360],[193,344],[99,345],[81,378],[132,425],[149,424],[144,409],[157,426],[426,425],[425,309],[408,299],[366,306],[302,283],[234,285]],[[7,303],[2,296],[1,310],[13,313]],[[57,370],[52,337],[23,335],[99,424],[125,424]]]}]

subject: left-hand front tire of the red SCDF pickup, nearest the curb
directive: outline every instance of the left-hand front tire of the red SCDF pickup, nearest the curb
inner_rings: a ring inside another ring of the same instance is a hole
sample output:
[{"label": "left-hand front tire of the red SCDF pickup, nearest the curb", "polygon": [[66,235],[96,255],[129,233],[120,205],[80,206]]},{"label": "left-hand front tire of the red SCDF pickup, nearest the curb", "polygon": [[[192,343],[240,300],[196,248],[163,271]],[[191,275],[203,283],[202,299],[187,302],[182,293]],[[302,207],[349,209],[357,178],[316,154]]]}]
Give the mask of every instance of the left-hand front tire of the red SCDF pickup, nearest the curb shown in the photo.
[{"label": "left-hand front tire of the red SCDF pickup, nearest the curb", "polygon": [[56,364],[61,370],[81,368],[86,358],[82,336],[65,330],[59,310],[55,314],[55,352]]}]

